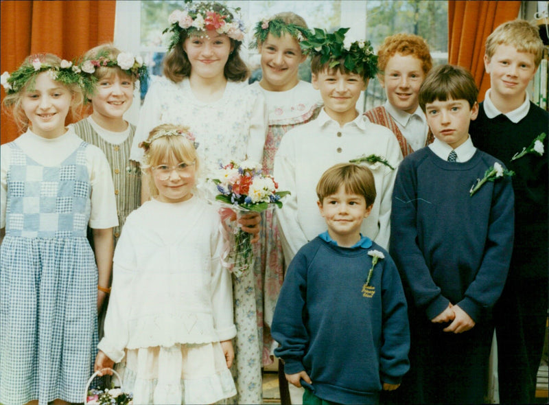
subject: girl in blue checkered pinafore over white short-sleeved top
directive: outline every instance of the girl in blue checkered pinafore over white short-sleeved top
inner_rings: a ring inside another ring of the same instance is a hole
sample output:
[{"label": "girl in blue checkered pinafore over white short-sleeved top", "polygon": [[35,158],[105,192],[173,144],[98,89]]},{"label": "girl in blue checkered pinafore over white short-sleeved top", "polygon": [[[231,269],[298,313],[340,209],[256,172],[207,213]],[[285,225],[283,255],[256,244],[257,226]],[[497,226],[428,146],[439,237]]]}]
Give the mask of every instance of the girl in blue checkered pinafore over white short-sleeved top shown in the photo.
[{"label": "girl in blue checkered pinafore over white short-sleeved top", "polygon": [[5,75],[4,104],[26,132],[0,147],[0,403],[81,402],[118,222],[110,168],[65,127],[83,100],[78,69],[42,54]]}]

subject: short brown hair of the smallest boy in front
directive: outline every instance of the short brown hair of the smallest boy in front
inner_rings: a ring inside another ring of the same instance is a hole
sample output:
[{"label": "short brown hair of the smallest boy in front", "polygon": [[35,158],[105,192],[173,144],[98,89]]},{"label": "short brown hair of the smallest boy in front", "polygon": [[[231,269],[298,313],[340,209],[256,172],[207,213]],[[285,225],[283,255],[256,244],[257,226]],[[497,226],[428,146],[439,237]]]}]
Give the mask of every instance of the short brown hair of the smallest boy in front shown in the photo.
[{"label": "short brown hair of the smallest boy in front", "polygon": [[339,163],[331,166],[323,173],[316,185],[316,196],[320,203],[323,203],[324,198],[336,194],[341,185],[344,185],[346,193],[364,196],[366,207],[374,203],[375,181],[368,167],[355,163]]}]

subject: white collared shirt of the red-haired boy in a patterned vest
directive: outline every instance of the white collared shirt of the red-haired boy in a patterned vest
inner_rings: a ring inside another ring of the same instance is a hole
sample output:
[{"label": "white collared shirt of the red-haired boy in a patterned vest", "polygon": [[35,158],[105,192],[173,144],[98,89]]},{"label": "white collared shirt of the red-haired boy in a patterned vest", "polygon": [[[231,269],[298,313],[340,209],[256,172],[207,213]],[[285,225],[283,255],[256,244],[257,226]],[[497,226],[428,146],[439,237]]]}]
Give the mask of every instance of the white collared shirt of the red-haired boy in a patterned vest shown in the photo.
[{"label": "white collared shirt of the red-haired boy in a patterned vest", "polygon": [[399,127],[400,132],[402,132],[402,135],[406,138],[412,149],[419,150],[423,148],[427,141],[429,125],[421,107],[417,106],[416,111],[412,114],[395,108],[388,100],[385,102],[384,107],[395,120],[397,127]]}]

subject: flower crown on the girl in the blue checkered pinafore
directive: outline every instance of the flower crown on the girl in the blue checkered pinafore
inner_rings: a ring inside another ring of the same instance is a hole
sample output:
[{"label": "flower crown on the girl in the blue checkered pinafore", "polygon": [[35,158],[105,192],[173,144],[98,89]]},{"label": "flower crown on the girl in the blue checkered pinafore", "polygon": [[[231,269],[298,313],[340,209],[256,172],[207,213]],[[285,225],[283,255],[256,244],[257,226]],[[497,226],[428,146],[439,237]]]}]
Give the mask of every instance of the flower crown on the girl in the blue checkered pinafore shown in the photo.
[{"label": "flower crown on the girl in the blue checkered pinafore", "polygon": [[67,86],[78,84],[84,93],[88,93],[89,91],[93,93],[95,82],[97,81],[96,78],[82,76],[80,67],[74,65],[69,60],[63,59],[60,65],[56,66],[42,62],[40,55],[37,55],[23,62],[23,65],[12,72],[11,75],[7,71],[2,73],[0,84],[8,94],[19,93],[27,84],[30,84],[30,89],[33,89],[36,76],[44,71],[47,71],[51,80],[55,80],[56,82]]}]

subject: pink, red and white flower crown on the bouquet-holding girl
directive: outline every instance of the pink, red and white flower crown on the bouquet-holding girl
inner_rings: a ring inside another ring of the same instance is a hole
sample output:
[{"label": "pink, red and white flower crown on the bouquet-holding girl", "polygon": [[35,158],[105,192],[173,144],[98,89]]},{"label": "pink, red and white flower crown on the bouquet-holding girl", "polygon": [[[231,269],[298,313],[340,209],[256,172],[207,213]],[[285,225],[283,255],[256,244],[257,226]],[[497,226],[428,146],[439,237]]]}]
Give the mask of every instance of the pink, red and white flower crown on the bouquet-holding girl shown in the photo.
[{"label": "pink, red and white flower crown on the bouquet-holding girl", "polygon": [[[220,12],[214,11],[214,8],[220,9]],[[185,31],[189,36],[216,31],[242,42],[245,31],[244,23],[241,19],[233,16],[239,11],[240,8],[231,11],[228,7],[213,1],[198,3],[194,8],[185,6],[184,10],[175,10],[167,19],[171,26],[162,32],[162,34],[168,31],[172,32],[168,51],[180,43],[181,32]]]}]

